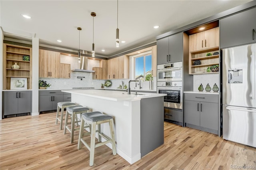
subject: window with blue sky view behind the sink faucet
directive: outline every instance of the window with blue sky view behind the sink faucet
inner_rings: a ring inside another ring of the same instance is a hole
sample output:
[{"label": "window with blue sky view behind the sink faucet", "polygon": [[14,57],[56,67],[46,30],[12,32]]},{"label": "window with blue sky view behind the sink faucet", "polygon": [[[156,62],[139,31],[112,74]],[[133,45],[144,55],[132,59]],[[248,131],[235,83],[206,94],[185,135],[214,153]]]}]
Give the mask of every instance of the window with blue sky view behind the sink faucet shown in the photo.
[{"label": "window with blue sky view behind the sink faucet", "polygon": [[152,71],[152,51],[132,56],[134,59],[134,79],[149,81]]}]

